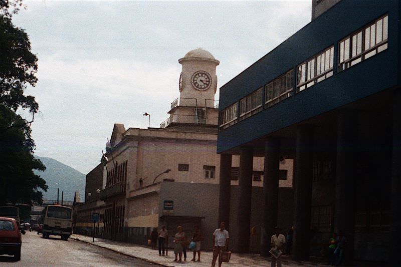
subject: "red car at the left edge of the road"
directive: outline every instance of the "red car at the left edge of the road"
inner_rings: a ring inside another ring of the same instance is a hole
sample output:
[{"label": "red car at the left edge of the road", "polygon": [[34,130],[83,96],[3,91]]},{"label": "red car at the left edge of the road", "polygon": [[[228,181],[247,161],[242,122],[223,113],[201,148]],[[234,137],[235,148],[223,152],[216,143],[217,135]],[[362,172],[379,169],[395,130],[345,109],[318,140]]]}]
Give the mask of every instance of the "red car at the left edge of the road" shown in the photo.
[{"label": "red car at the left edge of the road", "polygon": [[21,259],[21,233],[17,221],[13,218],[0,217],[0,255],[14,255],[17,260]]}]

